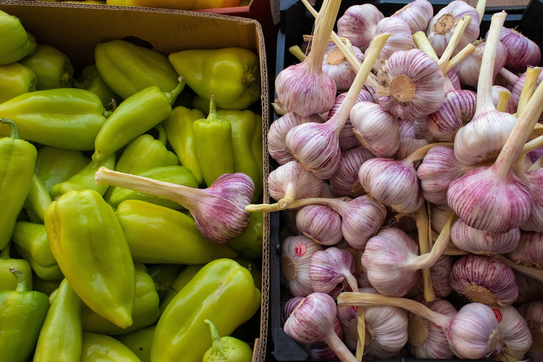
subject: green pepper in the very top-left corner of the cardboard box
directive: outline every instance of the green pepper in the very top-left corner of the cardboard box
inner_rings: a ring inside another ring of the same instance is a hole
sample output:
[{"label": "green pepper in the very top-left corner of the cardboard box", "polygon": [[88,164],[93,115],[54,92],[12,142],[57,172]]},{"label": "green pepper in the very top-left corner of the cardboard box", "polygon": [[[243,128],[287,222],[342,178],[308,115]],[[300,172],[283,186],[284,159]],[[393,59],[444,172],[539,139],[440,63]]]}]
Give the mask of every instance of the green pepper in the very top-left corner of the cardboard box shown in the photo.
[{"label": "green pepper in the very top-left corner of the cardboard box", "polygon": [[31,50],[21,20],[0,10],[0,65],[23,59]]}]

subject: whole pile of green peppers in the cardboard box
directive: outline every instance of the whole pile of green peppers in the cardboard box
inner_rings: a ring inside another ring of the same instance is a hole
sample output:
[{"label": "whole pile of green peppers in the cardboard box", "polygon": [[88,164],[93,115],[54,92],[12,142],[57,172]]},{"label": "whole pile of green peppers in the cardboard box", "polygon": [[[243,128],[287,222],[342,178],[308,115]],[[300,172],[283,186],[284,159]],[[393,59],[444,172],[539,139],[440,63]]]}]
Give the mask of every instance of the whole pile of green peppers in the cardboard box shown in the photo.
[{"label": "whole pile of green peppers in the cardboard box", "polygon": [[94,174],[198,188],[243,172],[258,201],[259,67],[247,49],[160,54],[111,40],[78,68],[0,11],[2,358],[200,362],[239,334],[250,360],[262,213],[214,244],[181,205]]}]

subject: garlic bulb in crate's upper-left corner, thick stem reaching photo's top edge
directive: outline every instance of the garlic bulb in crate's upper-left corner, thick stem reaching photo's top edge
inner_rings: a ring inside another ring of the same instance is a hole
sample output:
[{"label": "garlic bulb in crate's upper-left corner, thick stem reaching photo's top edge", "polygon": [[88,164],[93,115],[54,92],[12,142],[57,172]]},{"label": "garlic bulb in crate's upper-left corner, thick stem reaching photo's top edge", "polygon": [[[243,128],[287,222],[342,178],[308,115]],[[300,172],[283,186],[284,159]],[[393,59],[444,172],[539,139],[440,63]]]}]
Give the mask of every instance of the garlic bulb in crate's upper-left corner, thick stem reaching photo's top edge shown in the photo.
[{"label": "garlic bulb in crate's upper-left corner, thick stem reaching photo's top edge", "polygon": [[340,1],[325,0],[317,21],[307,58],[282,69],[275,77],[275,92],[280,104],[300,116],[311,116],[327,112],[336,99],[336,82],[323,72],[326,46]]}]

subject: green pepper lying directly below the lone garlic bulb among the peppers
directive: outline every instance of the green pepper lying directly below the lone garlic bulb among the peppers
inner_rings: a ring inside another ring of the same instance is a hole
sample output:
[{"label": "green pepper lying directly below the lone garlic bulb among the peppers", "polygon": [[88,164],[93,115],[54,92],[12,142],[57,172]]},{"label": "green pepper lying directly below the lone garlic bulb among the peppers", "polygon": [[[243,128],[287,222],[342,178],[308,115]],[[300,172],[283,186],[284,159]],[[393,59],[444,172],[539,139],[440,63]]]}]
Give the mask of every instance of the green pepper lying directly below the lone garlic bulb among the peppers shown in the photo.
[{"label": "green pepper lying directly below the lone garlic bulb among the peppers", "polygon": [[228,245],[208,242],[194,219],[177,210],[126,200],[116,214],[136,262],[190,265],[238,255]]}]

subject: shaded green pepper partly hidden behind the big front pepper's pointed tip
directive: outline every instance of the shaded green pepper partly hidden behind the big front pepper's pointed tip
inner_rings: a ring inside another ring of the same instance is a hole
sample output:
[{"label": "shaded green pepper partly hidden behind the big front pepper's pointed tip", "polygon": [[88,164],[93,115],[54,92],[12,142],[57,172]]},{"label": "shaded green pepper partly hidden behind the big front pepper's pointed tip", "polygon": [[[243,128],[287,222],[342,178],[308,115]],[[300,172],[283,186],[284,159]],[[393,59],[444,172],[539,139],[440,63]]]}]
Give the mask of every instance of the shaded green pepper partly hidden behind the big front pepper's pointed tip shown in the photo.
[{"label": "shaded green pepper partly hidden behind the big front pepper's pointed tip", "polygon": [[136,271],[136,296],[134,308],[132,308],[132,325],[128,328],[118,327],[84,305],[81,309],[83,331],[108,335],[125,334],[147,327],[159,319],[160,300],[153,278],[147,272],[144,264],[135,263],[134,268]]}]

